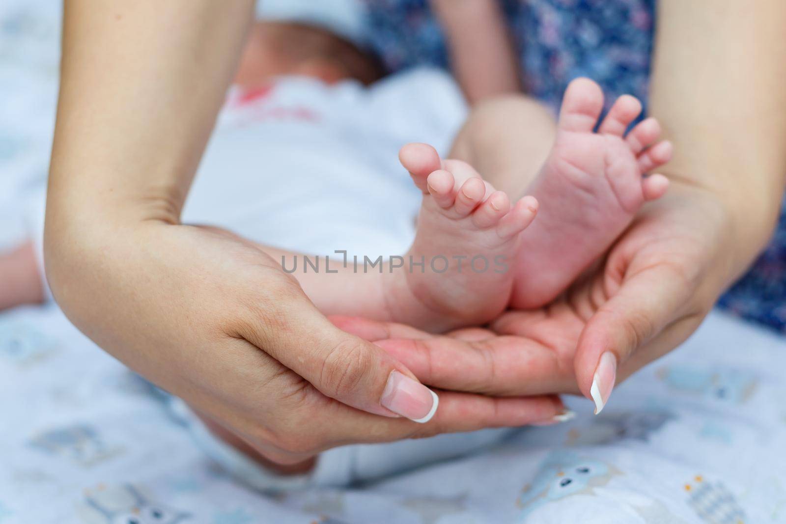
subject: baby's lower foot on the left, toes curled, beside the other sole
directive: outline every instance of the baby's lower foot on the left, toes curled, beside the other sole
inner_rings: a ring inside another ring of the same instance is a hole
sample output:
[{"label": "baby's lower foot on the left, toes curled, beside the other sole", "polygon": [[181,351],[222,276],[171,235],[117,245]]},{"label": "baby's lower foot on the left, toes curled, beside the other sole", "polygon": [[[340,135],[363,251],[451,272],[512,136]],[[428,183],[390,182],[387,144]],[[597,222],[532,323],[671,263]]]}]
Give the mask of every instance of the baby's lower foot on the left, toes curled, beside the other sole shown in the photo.
[{"label": "baby's lower foot on the left, toes curled, beside the other sole", "polygon": [[[538,201],[527,196],[511,205],[474,168],[459,160],[441,162],[429,145],[406,145],[400,159],[423,203],[417,235],[399,269],[405,284],[393,316],[435,330],[494,319],[508,306],[518,238]],[[410,257],[424,264],[410,267]]]}]

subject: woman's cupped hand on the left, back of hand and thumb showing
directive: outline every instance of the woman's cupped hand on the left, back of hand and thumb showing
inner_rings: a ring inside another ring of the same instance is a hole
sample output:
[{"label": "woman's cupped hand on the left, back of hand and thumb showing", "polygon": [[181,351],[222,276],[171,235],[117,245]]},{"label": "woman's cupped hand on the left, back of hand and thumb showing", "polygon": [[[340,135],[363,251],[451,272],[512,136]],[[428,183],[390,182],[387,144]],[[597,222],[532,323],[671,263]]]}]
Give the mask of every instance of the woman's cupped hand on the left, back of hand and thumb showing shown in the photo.
[{"label": "woman's cupped hand on the left, back of hand and thumb showing", "polygon": [[277,464],[354,442],[542,422],[563,409],[556,397],[444,391],[433,419],[415,423],[432,411],[431,391],[395,357],[331,324],[255,244],[162,222],[90,231],[60,229],[47,242],[68,317]]}]

